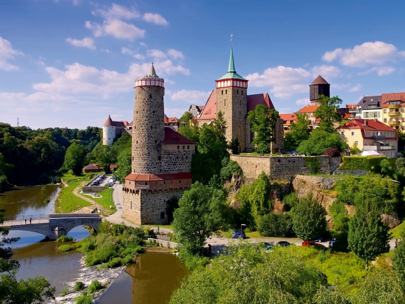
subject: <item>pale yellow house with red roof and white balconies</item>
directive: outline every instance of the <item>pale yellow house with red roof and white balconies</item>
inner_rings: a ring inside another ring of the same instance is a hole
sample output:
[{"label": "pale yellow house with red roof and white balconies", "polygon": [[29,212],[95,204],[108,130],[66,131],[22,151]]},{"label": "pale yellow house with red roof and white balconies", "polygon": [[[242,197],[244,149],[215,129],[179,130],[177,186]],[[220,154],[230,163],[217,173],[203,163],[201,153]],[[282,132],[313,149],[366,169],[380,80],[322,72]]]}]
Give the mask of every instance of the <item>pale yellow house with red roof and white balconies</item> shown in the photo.
[{"label": "pale yellow house with red roof and white balconies", "polygon": [[352,119],[337,128],[350,147],[355,144],[362,151],[376,151],[389,158],[397,157],[398,135],[395,129],[377,119]]}]

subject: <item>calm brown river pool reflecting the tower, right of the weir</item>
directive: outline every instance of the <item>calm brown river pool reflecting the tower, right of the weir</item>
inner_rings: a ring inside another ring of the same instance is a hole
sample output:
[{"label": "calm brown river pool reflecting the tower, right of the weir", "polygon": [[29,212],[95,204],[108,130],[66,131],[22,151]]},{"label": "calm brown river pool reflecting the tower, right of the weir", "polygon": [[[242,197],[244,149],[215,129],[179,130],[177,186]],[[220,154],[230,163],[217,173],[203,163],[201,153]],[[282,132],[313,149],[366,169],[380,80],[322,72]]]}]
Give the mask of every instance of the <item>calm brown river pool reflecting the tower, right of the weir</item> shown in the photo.
[{"label": "calm brown river pool reflecting the tower, right of the weir", "polygon": [[119,274],[96,304],[166,303],[187,274],[187,268],[171,252],[148,251]]}]

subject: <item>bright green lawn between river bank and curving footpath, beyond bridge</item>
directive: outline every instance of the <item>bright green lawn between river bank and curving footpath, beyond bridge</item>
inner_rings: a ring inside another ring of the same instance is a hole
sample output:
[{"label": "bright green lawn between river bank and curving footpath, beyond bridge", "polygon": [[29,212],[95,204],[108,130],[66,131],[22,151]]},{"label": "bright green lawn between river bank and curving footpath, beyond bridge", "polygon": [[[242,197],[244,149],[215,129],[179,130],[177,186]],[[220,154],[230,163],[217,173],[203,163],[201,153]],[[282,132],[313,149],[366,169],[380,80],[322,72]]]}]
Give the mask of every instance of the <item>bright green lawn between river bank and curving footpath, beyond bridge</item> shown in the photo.
[{"label": "bright green lawn between river bank and curving footpath, beyond bridge", "polygon": [[[75,187],[80,185],[83,181],[90,181],[94,176],[94,173],[82,174],[81,176],[73,176],[70,174],[64,174],[62,180],[68,184],[59,193],[59,196],[55,202],[56,213],[70,213],[82,207],[90,206],[91,204],[83,199],[76,197],[73,194]],[[76,179],[69,181],[70,179]],[[78,179],[78,180],[77,180]]]}]

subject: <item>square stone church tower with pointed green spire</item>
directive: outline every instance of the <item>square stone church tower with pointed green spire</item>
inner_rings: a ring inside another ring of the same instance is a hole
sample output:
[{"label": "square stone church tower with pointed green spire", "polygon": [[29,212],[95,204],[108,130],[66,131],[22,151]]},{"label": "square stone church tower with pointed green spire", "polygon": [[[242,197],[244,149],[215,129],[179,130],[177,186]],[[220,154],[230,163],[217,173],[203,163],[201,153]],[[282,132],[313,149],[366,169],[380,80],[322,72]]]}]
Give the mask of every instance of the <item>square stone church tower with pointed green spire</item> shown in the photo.
[{"label": "square stone church tower with pointed green spire", "polygon": [[228,72],[215,82],[217,116],[219,111],[224,113],[226,140],[231,141],[237,136],[239,151],[244,150],[246,146],[246,116],[248,115],[248,80],[236,73],[232,47]]}]

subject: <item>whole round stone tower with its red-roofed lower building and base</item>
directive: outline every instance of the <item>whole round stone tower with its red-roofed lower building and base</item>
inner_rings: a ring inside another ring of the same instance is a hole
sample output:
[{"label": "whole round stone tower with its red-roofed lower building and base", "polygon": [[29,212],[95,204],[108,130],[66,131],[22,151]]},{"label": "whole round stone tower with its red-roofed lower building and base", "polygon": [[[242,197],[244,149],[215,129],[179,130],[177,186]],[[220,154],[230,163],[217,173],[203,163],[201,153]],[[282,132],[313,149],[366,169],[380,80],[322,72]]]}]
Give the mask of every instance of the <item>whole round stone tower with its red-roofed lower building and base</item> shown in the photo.
[{"label": "whole round stone tower with its red-roofed lower building and base", "polygon": [[149,73],[135,80],[132,168],[123,187],[123,215],[136,224],[167,223],[167,202],[192,182],[195,143],[165,128],[165,81]]}]

